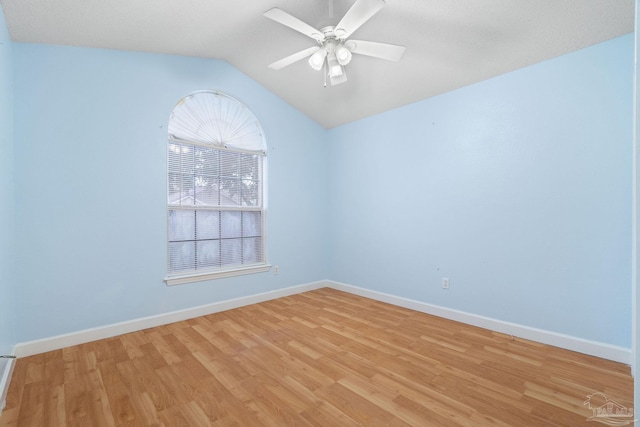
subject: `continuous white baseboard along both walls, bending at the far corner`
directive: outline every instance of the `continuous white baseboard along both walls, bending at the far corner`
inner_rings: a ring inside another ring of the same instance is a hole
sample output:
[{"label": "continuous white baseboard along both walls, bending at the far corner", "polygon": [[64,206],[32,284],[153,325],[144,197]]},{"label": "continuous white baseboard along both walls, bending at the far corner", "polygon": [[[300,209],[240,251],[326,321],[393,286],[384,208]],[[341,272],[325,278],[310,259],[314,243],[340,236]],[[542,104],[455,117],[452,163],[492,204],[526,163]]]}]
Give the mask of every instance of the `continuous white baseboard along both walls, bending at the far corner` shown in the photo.
[{"label": "continuous white baseboard along both walls, bending at the far corner", "polygon": [[226,301],[220,301],[212,304],[193,307],[190,309],[173,311],[157,316],[144,317],[127,322],[115,323],[103,327],[85,329],[78,332],[58,335],[50,338],[23,342],[16,345],[15,355],[17,357],[31,356],[47,351],[58,350],[72,345],[83,344],[99,339],[126,334],[129,332],[152,328],[155,326],[166,325],[168,323],[192,319],[198,316],[205,316],[207,314],[230,310],[249,304],[255,304],[284,296],[295,295],[322,287],[334,288],[355,295],[371,298],[377,301],[397,305],[399,307],[405,307],[411,310],[420,311],[422,313],[432,314],[435,316],[443,317],[445,319],[455,320],[469,325],[512,335],[514,337],[537,341],[543,344],[565,348],[568,350],[613,360],[615,362],[620,362],[627,365],[631,365],[632,362],[631,349],[628,348],[585,340],[582,338],[564,335],[557,332],[523,326],[516,323],[504,322],[489,317],[479,316],[464,311],[454,310],[451,308],[433,305],[421,301],[398,297],[383,292],[372,291],[369,289],[347,285],[345,283],[335,281],[319,281],[299,286],[292,286],[289,288],[278,289],[275,291],[269,291]]}]

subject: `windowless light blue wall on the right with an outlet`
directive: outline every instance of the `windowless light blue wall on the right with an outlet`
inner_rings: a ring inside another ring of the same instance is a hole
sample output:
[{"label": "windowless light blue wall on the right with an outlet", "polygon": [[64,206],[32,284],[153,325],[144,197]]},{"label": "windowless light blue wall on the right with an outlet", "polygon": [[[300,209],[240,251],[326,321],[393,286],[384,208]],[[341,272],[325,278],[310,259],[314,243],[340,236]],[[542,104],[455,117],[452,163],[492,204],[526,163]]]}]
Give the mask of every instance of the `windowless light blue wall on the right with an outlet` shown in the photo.
[{"label": "windowless light blue wall on the right with an outlet", "polygon": [[329,277],[630,348],[633,43],[332,130]]}]

